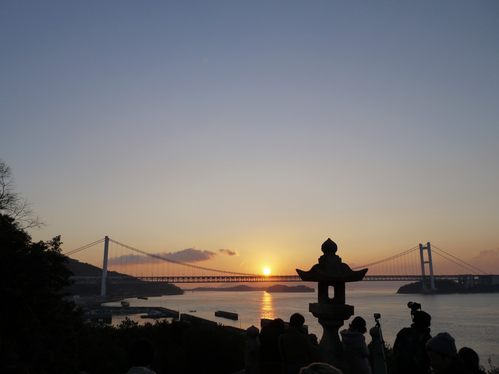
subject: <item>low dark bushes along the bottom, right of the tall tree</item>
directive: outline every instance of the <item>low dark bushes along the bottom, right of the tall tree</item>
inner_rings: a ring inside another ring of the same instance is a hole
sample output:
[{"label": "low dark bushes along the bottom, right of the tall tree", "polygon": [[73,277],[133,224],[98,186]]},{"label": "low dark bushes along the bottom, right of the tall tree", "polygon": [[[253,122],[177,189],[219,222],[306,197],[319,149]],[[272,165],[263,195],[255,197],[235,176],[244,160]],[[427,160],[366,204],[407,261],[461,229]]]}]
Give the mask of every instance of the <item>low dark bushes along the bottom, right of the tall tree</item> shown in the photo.
[{"label": "low dark bushes along the bottom, right of the tall tree", "polygon": [[[221,325],[125,319],[117,327],[88,327],[80,338],[80,370],[92,374],[126,373],[133,341],[147,338],[155,347],[152,368],[161,373],[230,374],[244,367],[246,335]],[[195,359],[193,359],[195,358]]]}]

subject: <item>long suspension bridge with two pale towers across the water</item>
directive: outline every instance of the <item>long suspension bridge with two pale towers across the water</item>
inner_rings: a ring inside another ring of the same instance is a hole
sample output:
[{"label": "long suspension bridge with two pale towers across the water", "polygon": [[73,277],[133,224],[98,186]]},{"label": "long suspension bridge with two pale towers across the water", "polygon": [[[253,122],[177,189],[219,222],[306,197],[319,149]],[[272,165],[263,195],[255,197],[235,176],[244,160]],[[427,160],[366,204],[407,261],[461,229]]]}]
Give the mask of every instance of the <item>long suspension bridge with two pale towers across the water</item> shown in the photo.
[{"label": "long suspension bridge with two pale towers across the water", "polygon": [[[64,255],[73,256],[90,247],[104,244],[102,275],[73,276],[77,284],[101,284],[101,295],[106,292],[108,283],[251,283],[251,282],[301,282],[298,275],[258,275],[217,270],[185,262],[175,261],[162,254],[148,253],[119,243],[106,236],[104,239],[87,244]],[[432,250],[433,249],[433,250]],[[436,251],[437,250],[437,251]],[[433,272],[432,254],[437,254],[466,270],[466,274],[437,275]],[[424,287],[435,289],[435,280],[448,279],[473,286],[484,277],[490,277],[457,257],[428,242],[419,244],[394,256],[352,268],[369,268],[365,281],[420,281]],[[145,274],[144,274],[145,273]],[[166,275],[165,275],[166,273]],[[161,274],[161,275],[160,275]],[[398,275],[393,275],[398,274]]]}]

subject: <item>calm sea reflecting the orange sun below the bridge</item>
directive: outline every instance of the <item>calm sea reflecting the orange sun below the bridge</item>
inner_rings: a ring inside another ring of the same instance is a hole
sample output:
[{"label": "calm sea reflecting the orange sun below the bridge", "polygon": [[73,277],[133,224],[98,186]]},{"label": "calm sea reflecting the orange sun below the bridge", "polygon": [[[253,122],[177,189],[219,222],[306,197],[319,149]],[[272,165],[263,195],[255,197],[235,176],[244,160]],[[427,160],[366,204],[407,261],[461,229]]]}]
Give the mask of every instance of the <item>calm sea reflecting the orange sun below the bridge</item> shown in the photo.
[{"label": "calm sea reflecting the orange sun below the bridge", "polygon": [[[481,364],[488,368],[487,359],[499,367],[499,295],[400,295],[396,294],[399,282],[347,283],[346,303],[355,307],[355,315],[367,321],[368,329],[374,326],[374,313],[381,314],[381,328],[385,341],[393,346],[397,332],[411,324],[409,301],[422,305],[422,310],[432,316],[431,333],[448,332],[456,339],[456,346],[470,347],[480,356]],[[312,284],[308,284],[314,287]],[[316,287],[315,287],[316,288]],[[247,329],[251,325],[260,328],[261,318],[289,320],[293,313],[305,317],[309,333],[322,336],[322,327],[308,312],[308,304],[317,302],[317,293],[266,293],[264,291],[230,292],[186,291],[184,295],[150,297],[148,300],[126,299],[130,306],[163,306],[180,310],[197,317],[224,325]],[[119,305],[109,303],[108,305]],[[189,310],[196,312],[190,313]],[[238,321],[215,317],[216,310],[239,314]],[[153,320],[141,319],[140,315],[128,316],[140,323]],[[124,316],[113,316],[118,324]],[[353,317],[352,317],[353,319]],[[351,320],[350,320],[351,321]],[[346,321],[345,326],[348,326]],[[370,341],[369,334],[366,341]]]}]

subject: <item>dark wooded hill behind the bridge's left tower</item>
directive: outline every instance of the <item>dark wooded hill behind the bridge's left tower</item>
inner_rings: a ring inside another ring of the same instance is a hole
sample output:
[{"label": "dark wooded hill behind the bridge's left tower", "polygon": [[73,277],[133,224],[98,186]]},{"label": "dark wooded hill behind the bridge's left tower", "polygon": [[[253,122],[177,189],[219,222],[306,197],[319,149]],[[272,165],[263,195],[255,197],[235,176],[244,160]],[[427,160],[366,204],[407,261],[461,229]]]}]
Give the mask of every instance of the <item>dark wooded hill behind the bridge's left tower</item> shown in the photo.
[{"label": "dark wooded hill behind the bridge's left tower", "polygon": [[[68,260],[69,261],[66,266],[75,276],[102,276],[102,269],[97,266],[87,264],[85,262],[79,262],[78,260],[74,260],[72,258],[69,258]],[[107,275],[110,277],[128,276],[116,271],[108,271]],[[100,283],[73,284],[64,291],[71,295],[100,295],[100,287]],[[106,293],[110,296],[136,297],[182,295],[184,294],[184,291],[171,283],[150,283],[137,280],[137,283],[126,284],[112,284],[108,282],[106,284]]]}]

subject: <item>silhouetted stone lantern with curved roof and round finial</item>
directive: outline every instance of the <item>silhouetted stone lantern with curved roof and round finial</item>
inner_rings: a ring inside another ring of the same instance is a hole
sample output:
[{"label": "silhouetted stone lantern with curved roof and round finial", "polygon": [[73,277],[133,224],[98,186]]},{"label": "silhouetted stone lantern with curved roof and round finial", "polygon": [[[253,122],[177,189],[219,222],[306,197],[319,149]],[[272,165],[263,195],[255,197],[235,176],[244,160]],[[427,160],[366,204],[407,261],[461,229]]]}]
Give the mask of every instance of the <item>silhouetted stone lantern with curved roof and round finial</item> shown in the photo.
[{"label": "silhouetted stone lantern with curved roof and round finial", "polygon": [[[308,311],[324,329],[317,361],[343,368],[343,348],[338,330],[354,314],[353,305],[345,304],[345,283],[362,280],[368,269],[355,271],[341,262],[336,254],[338,246],[331,239],[322,244],[321,250],[324,254],[319,257],[318,264],[308,271],[296,269],[296,272],[303,281],[318,282],[317,303],[308,304]],[[329,297],[329,286],[333,287],[332,298]]]}]

